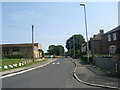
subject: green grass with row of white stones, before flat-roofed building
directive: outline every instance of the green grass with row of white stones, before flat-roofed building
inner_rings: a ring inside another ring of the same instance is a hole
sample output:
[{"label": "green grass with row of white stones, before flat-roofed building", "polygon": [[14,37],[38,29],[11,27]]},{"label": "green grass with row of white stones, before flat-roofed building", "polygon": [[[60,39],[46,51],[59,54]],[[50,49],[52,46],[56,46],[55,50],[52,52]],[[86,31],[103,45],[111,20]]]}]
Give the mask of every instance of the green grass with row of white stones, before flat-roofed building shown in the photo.
[{"label": "green grass with row of white stones, before flat-roofed building", "polygon": [[[28,61],[30,59],[0,59],[2,61],[2,66],[4,65],[12,65],[12,64],[15,64],[15,63],[20,63],[20,62],[23,62],[23,61]],[[31,59],[32,60],[32,59]],[[14,68],[8,68],[8,69],[1,69],[0,68],[0,72],[1,71],[7,71],[7,70],[11,70],[11,69],[16,69],[16,68],[21,68],[21,67],[26,67],[26,66],[30,66],[30,65],[33,65],[33,64],[36,64],[36,63],[40,63],[40,62],[44,62],[46,60],[41,60],[41,61],[36,61],[36,62],[31,62],[31,63],[27,63],[23,66],[18,66],[18,67],[14,67]]]}]

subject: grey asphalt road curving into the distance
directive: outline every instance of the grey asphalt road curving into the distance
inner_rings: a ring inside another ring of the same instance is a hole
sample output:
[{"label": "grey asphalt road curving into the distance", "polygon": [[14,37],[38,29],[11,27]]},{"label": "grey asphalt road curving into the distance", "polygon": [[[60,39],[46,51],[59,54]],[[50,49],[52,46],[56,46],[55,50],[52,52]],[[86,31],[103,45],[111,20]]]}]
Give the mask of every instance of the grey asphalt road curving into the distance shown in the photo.
[{"label": "grey asphalt road curving into the distance", "polygon": [[58,58],[51,64],[2,79],[3,88],[95,88],[73,78],[73,62]]}]

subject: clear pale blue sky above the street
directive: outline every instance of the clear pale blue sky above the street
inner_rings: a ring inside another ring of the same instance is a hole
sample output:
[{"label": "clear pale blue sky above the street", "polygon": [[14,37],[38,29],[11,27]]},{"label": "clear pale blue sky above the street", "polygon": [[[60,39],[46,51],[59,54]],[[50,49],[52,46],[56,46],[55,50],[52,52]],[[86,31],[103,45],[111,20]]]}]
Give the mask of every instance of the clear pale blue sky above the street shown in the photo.
[{"label": "clear pale blue sky above the street", "polygon": [[[49,45],[63,45],[74,34],[85,38],[84,9],[81,2],[3,2],[2,44],[31,43],[46,52]],[[82,2],[83,3],[83,2]],[[118,26],[117,2],[85,2],[89,38]],[[66,50],[66,49],[65,49]]]}]

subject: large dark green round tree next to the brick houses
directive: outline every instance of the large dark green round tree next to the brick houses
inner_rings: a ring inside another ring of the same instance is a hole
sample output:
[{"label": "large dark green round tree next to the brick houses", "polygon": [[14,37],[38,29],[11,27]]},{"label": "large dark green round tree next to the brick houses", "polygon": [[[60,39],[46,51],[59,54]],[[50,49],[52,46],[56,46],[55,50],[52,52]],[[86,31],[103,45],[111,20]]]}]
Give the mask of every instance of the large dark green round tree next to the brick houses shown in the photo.
[{"label": "large dark green round tree next to the brick houses", "polygon": [[68,49],[68,55],[74,56],[75,49],[75,57],[79,57],[81,54],[81,44],[85,43],[85,39],[81,34],[76,34],[70,37],[66,41],[66,48]]}]

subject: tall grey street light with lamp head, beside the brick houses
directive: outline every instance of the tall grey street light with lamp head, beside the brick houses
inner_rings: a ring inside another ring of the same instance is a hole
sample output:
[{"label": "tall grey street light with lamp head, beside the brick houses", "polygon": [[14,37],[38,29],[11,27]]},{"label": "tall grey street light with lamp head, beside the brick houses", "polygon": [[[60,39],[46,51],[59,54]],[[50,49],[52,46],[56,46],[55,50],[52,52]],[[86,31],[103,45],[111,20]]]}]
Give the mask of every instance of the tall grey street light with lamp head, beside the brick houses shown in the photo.
[{"label": "tall grey street light with lamp head, beside the brick houses", "polygon": [[88,32],[87,32],[87,18],[86,18],[86,7],[85,4],[80,4],[80,6],[84,7],[84,15],[85,15],[85,28],[86,28],[86,40],[87,40],[87,56],[88,56],[88,63],[89,63],[89,44],[88,44]]}]

